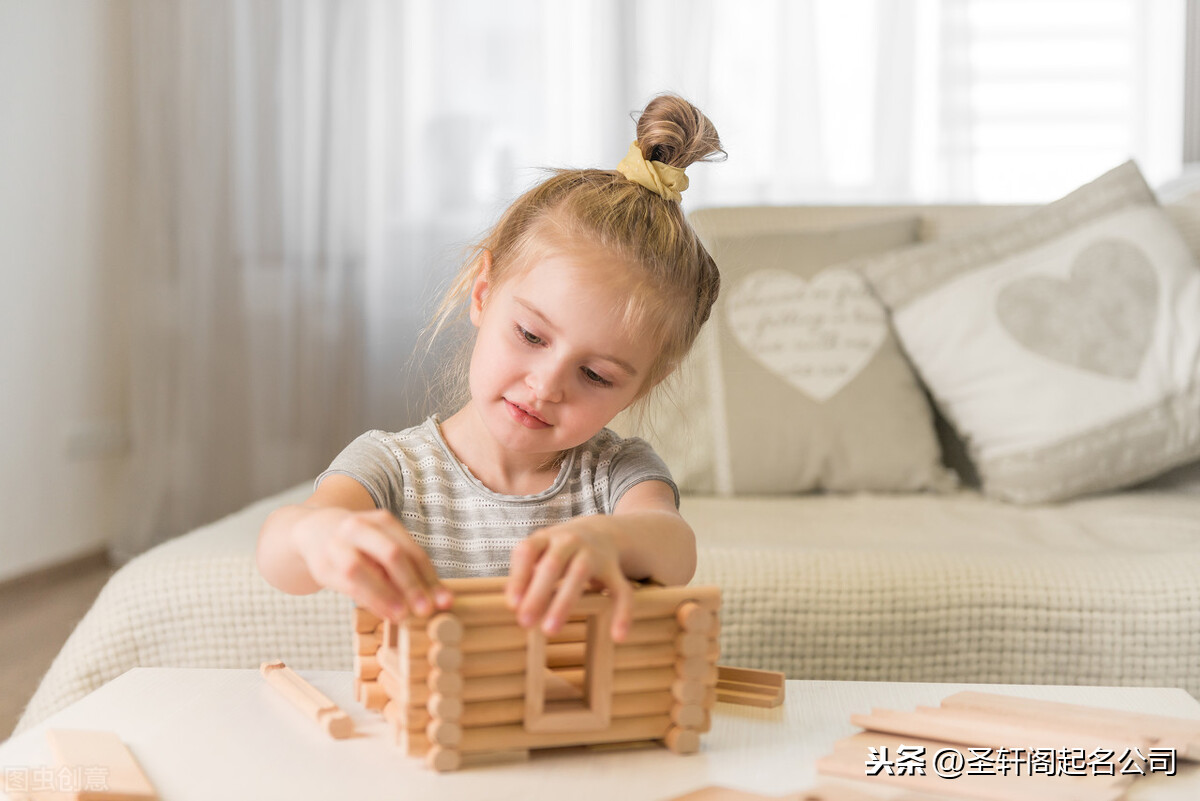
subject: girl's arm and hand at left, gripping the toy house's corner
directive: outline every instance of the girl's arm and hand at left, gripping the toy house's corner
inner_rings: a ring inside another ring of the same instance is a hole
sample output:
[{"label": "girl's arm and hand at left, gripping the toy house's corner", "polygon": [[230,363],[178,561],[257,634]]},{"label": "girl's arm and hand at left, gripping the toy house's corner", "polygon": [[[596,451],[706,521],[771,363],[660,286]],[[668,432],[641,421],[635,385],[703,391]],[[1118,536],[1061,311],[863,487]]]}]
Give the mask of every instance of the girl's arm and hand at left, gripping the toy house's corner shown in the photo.
[{"label": "girl's arm and hand at left, gripping the toy house's corner", "polygon": [[348,476],[326,476],[302,504],[271,512],[256,558],[263,577],[284,592],[328,588],[389,620],[451,603],[428,555]]}]

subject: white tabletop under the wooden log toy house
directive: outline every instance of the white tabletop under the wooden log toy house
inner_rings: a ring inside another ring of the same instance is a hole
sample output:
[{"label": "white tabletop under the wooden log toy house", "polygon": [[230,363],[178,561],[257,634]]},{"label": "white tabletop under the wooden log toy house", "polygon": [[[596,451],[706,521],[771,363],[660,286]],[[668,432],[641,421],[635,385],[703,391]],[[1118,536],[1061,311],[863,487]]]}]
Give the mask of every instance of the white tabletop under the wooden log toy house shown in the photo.
[{"label": "white tabletop under the wooden log toy house", "polygon": [[[1008,693],[1200,719],[1182,689],[788,681],[778,709],[719,704],[701,753],[665,748],[535,752],[528,761],[427,770],[406,757],[382,717],[352,700],[350,674],[301,671],[354,718],[360,736],[332,740],[257,670],[137,668],[0,745],[0,771],[53,764],[46,729],[115,731],[163,801],[197,799],[671,799],[721,784],[769,795],[826,782],[816,760],[859,729],[854,712],[936,705],[960,689]],[[0,773],[2,775],[2,773]],[[1141,779],[1130,800],[1200,799],[1200,772]]]}]

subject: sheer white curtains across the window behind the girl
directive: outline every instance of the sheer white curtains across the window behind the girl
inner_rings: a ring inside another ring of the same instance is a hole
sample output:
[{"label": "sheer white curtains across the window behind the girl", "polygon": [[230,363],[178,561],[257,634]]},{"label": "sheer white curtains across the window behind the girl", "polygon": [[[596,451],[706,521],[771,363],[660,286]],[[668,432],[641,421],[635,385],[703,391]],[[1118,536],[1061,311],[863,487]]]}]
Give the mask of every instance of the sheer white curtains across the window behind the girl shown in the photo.
[{"label": "sheer white curtains across the window behind the girl", "polygon": [[[418,335],[466,248],[538,168],[614,165],[656,92],[704,109],[730,153],[692,168],[692,210],[995,200],[984,162],[994,194],[1076,180],[1006,155],[1002,134],[980,150],[990,88],[971,59],[1048,36],[1000,0],[131,1],[140,277],[119,555],[434,410],[439,354],[421,359]],[[1175,6],[1105,0],[1111,30],[1087,31],[1123,48],[1130,78],[1100,95],[1163,94]],[[1078,40],[1090,2],[1055,7]],[[1156,140],[1142,120],[1162,115],[1127,116],[1079,176]]]}]

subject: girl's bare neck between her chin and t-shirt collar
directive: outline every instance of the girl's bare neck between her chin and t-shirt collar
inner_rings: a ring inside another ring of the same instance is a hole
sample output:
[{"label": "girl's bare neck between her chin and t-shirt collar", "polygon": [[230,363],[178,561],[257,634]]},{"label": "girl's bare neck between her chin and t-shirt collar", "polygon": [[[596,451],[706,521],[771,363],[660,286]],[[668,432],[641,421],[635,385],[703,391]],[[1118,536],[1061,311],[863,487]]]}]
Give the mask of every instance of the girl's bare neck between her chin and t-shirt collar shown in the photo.
[{"label": "girl's bare neck between her chin and t-shirt collar", "polygon": [[560,453],[514,453],[487,432],[472,403],[442,422],[442,438],[485,487],[502,495],[535,495],[554,483]]}]

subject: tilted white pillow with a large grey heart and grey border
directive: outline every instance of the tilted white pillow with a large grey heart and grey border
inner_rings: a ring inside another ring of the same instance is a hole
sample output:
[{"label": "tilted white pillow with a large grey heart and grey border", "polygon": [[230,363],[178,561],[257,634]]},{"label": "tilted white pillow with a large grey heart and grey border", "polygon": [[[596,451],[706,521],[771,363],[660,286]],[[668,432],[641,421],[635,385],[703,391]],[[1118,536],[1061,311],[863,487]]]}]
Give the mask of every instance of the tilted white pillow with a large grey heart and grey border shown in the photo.
[{"label": "tilted white pillow with a large grey heart and grey border", "polygon": [[856,267],[985,494],[1064,500],[1200,458],[1200,269],[1135,163]]}]

